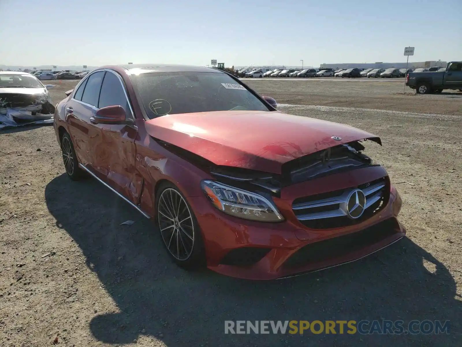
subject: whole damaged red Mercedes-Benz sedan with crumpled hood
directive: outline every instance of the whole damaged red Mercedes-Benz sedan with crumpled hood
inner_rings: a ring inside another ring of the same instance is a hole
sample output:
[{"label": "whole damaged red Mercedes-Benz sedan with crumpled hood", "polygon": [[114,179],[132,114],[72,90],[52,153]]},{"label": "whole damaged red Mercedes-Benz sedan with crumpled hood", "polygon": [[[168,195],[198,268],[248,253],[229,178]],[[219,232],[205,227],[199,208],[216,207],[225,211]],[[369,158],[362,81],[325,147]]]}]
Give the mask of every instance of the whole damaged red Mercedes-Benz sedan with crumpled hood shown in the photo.
[{"label": "whole damaged red Mercedes-Benz sedan with crumpled hood", "polygon": [[213,68],[105,66],[56,107],[72,180],[87,173],[155,221],[171,258],[276,279],[357,260],[406,234],[368,132],[277,111]]}]

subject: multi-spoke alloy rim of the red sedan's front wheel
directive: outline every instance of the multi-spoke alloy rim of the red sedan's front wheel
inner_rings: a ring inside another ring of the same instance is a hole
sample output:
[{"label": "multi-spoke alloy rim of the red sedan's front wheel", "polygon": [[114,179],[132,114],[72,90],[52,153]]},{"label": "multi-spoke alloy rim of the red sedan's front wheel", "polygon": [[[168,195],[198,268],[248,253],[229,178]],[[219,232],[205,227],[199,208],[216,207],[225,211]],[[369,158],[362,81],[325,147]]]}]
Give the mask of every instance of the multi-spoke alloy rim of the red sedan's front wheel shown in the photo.
[{"label": "multi-spoke alloy rim of the red sedan's front wheel", "polygon": [[170,254],[177,260],[188,260],[194,248],[194,221],[188,204],[175,189],[166,188],[160,195],[157,218]]}]

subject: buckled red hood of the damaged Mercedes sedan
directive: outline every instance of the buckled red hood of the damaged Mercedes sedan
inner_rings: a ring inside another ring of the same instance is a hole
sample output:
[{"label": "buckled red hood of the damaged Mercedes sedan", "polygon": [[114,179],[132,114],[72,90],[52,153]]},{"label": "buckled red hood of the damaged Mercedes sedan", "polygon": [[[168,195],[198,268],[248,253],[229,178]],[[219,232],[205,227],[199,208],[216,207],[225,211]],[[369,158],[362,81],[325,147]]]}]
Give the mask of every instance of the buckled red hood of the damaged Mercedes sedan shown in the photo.
[{"label": "buckled red hood of the damaged Mercedes sedan", "polygon": [[[159,140],[216,165],[280,174],[282,164],[322,149],[380,138],[348,125],[279,111],[219,111],[166,115],[146,122]],[[332,136],[341,139],[336,141]]]}]

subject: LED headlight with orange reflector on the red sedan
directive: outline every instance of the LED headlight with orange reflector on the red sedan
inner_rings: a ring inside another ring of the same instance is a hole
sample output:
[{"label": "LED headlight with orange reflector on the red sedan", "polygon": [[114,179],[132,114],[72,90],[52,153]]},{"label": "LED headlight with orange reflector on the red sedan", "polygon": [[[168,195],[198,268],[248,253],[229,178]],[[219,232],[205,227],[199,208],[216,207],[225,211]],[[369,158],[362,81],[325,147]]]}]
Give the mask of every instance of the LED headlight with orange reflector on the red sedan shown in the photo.
[{"label": "LED headlight with orange reflector on the red sedan", "polygon": [[211,180],[202,181],[201,186],[212,204],[231,216],[260,222],[284,220],[273,202],[261,195]]}]

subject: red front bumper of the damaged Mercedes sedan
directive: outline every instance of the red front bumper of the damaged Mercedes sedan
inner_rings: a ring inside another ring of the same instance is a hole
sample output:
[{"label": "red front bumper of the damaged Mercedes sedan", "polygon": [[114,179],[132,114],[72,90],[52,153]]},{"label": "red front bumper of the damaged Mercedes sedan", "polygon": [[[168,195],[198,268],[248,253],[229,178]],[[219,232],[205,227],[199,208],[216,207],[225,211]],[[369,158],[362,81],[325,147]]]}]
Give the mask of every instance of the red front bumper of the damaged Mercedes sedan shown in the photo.
[{"label": "red front bumper of the damaged Mercedes sedan", "polygon": [[335,229],[306,228],[291,216],[293,199],[282,195],[274,198],[286,218],[281,223],[243,220],[216,210],[205,196],[188,198],[202,230],[207,267],[231,277],[278,279],[358,260],[406,235],[396,218],[401,198],[393,186],[382,210],[364,222]]}]

